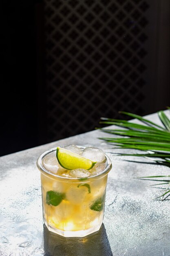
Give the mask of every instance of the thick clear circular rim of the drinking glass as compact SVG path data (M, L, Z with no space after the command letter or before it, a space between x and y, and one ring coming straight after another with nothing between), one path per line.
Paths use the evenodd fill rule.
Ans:
M63 146L66 146L66 145L62 145L61 147L63 147ZM77 146L77 145L76 145ZM77 146L77 147L79 147L79 148L87 148L88 146ZM101 172L99 172L99 173L97 173L97 174L95 174L95 175L92 175L92 176L89 176L89 177L84 177L84 178L75 178L75 177L63 177L63 176L60 176L60 175L57 175L57 174L55 174L55 173L52 173L52 172L50 172L50 171L48 171L44 166L43 166L43 164L42 164L42 160L43 160L43 158L44 157L46 157L46 155L48 155L49 153L52 153L52 152L54 152L55 150L57 149L57 147L55 147L55 148L51 148L51 149L49 149L49 150L46 150L44 153L42 153L39 157L38 157L38 159L37 159L37 167L38 167L38 169L39 169L39 171L41 172L41 173L43 173L44 175L45 174L47 174L48 176L52 176L52 177L55 177L55 178L59 178L59 179L61 179L61 180L75 180L75 181L84 181L84 182L86 182L86 181L89 181L89 180L93 180L93 179L95 179L95 178L99 178L100 176L105 176L110 170L111 170L111 168L112 168L112 162L111 162L111 160L110 160L110 158L108 157L108 155L106 155L105 153L105 157L106 157L106 167L104 168L104 170L103 171L101 171ZM52 178L51 177L51 178Z

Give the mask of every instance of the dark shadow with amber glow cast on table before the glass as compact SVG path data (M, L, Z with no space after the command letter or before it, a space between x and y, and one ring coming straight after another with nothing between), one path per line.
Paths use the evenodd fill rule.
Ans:
M84 238L65 238L47 229L44 225L45 256L113 256L106 229Z

